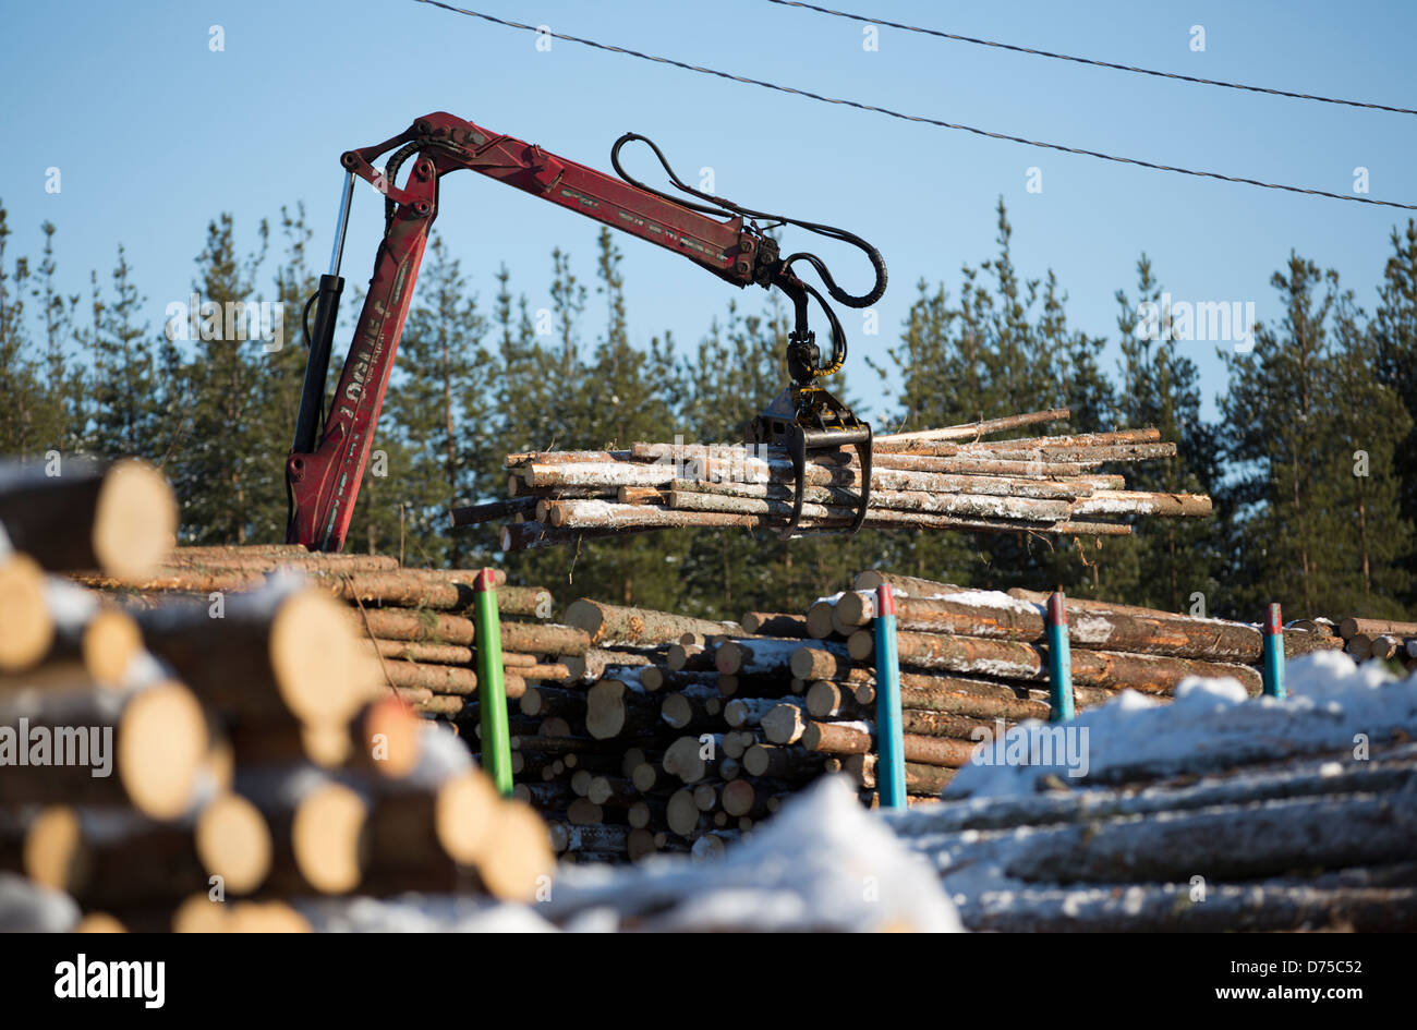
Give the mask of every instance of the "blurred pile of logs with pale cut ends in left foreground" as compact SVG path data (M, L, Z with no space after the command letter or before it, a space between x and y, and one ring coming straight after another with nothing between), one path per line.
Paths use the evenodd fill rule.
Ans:
M0 527L0 870L81 928L303 929L323 897L530 898L551 873L544 823L393 697L329 577L170 553L137 463L7 470Z

